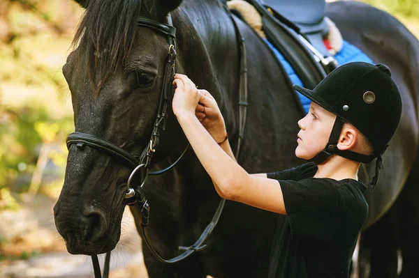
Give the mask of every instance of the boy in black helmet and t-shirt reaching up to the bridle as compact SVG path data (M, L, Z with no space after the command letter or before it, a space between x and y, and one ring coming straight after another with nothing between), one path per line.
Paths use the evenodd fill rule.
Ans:
M216 192L286 215L277 227L269 277L348 277L368 214L367 187L358 181L358 168L377 158L374 188L402 113L390 76L385 65L357 62L341 65L312 91L294 86L312 100L309 113L298 121L295 155L316 164L249 174L234 160L212 95L175 75L173 111Z

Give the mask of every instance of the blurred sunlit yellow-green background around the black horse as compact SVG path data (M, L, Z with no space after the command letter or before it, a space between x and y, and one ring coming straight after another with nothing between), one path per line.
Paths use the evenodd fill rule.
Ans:
M366 2L419 36L419 0ZM74 129L61 67L82 12L71 0L0 0L0 277L92 277L52 215ZM128 212L122 229L111 277L147 277Z

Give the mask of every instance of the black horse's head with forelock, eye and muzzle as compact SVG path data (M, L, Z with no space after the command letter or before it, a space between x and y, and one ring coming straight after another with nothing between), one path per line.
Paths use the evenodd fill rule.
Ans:
M152 137L166 86L170 41L161 31L138 26L138 18L167 23L168 13L180 2L79 1L86 11L74 40L78 47L63 67L76 132L140 157ZM165 136L175 141L174 133L166 128ZM160 150L170 148L168 144ZM64 187L54 207L57 229L72 254L108 252L119 240L130 169L89 144L70 144L68 151Z

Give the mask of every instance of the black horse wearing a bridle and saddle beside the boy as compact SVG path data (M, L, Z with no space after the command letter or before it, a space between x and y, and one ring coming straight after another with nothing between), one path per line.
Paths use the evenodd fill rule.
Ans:
M78 47L63 68L71 90L76 131L94 134L134 157L140 156L149 144L159 108L169 45L161 32L138 27L136 22L141 16L166 23L170 13L177 28L176 71L214 95L236 147L240 52L223 1L78 2L87 9L75 37ZM402 123L385 153L380 182L374 193L368 194L368 227L392 206L416 160L419 44L393 17L362 3L329 3L328 16L346 40L377 63L392 68L392 77L402 91ZM237 24L246 41L249 69L247 125L237 160L251 173L293 167L302 163L294 155L297 121L303 116L300 103L284 69L263 40L247 24L240 20ZM186 145L175 117L170 116L152 169L172 164ZM369 175L373 168L369 171L367 167ZM56 226L68 252L91 255L115 248L129 174L129 169L96 148L71 145L64 187L54 207ZM414 187L413 183L406 185L410 186ZM147 235L163 258L176 256L179 246L195 242L219 203L209 176L191 149L175 168L150 177L143 188L152 206ZM140 212L131 210L141 231ZM418 222L413 222L418 219L418 208L410 213L415 215L411 225L418 234ZM207 247L186 260L160 263L143 245L149 277L265 277L278 218L274 213L227 202ZM411 249L419 247L416 238L409 240L416 240ZM411 255L406 254L414 265ZM409 277L416 276L411 272Z

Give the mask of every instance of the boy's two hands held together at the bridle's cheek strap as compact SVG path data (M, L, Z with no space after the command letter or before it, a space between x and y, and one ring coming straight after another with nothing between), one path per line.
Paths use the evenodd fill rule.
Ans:
M172 109L175 116L195 113L204 128L216 142L226 138L226 125L214 97L205 90L198 90L186 75L175 75L173 84L177 86Z

